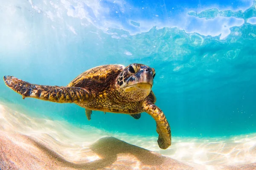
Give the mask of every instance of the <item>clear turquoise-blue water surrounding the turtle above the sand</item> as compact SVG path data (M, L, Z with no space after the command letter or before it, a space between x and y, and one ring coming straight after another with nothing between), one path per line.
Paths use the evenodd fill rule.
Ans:
M156 104L172 136L255 133L256 3L232 2L2 2L0 75L62 86L98 65L143 63L156 70ZM94 111L87 121L75 104L23 100L3 81L0 89L0 101L34 116L157 136L146 113L135 120Z

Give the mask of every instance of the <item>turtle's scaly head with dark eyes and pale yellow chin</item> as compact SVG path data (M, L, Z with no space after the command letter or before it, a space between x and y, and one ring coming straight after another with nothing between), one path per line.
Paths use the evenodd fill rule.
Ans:
M154 76L154 68L136 63L128 65L116 78L116 89L126 101L140 101L149 95Z

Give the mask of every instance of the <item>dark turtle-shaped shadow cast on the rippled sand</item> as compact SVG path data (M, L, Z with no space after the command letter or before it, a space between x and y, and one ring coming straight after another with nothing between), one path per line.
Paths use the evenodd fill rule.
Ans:
M96 153L101 159L81 164L67 161L58 153L49 149L45 145L35 141L34 139L31 140L33 141L33 144L38 147L38 149L44 150L44 153L47 153L47 155L51 159L55 159L55 163L61 167L72 167L76 169L91 170L102 169L104 167L110 167L117 160L118 154L120 153L135 156L137 158L137 161L140 161L140 164L146 167L162 167L163 165L165 165L165 167L170 167L174 164L187 166L174 159L162 156L157 153L153 153L149 150L145 150L132 144L128 144L114 137L101 138L90 146L90 149L94 153Z

